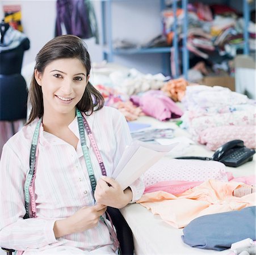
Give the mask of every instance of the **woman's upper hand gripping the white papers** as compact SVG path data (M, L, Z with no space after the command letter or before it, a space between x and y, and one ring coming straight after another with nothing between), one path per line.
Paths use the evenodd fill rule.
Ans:
M98 203L120 209L132 201L132 190L127 188L123 191L117 181L102 176L97 181L94 198Z

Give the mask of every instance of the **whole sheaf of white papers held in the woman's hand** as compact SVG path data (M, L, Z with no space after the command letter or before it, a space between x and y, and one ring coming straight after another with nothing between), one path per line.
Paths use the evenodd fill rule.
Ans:
M124 190L177 144L154 145L152 143L133 141L131 145L125 148L111 177L119 182Z

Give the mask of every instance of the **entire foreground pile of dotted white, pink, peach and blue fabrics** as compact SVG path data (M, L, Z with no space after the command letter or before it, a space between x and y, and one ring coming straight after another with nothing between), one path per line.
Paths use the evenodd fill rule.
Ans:
M167 224L184 227L182 240L191 247L224 250L256 239L255 175L234 178L220 162L163 159L142 180L146 189L137 203ZM255 248L249 244L250 251Z

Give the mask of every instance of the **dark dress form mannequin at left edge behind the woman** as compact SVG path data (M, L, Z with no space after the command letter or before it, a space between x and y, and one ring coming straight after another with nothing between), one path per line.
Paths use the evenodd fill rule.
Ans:
M26 120L27 84L20 74L23 54L30 41L3 20L0 23L0 155L3 144L15 133L15 121ZM8 121L8 122L7 122Z

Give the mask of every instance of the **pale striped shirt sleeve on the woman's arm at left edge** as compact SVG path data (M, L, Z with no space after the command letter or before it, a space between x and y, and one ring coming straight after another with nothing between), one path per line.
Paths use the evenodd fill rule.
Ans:
M22 151L20 151L22 156ZM6 144L0 160L1 173L1 247L15 250L40 248L56 242L53 226L56 219L23 219L26 169L19 156Z

